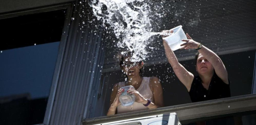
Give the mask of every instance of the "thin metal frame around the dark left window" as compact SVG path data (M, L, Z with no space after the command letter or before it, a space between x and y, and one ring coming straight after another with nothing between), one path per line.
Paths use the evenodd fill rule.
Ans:
M57 60L55 63L55 70L54 70L54 74L51 82L51 89L50 89L50 94L47 102L46 112L44 115L44 120L43 120L43 123L40 123L37 125L49 125L49 122L50 122L51 111L53 108L55 93L58 86L58 80L59 80L59 74L62 66L64 50L66 48L66 43L68 38L67 34L70 29L70 27L68 27L68 24L71 23L71 16L72 16L72 11L74 10L74 4L75 4L75 1L63 3L63 4L55 4L55 5L45 6L45 7L39 7L39 8L14 11L14 12L0 13L0 20L1 20L1 19L7 19L7 18L12 18L17 16L24 16L24 15L31 15L31 14L66 9L66 18L65 18L63 30L62 30L62 32L65 32L65 34L62 35L60 39L59 51L58 51Z

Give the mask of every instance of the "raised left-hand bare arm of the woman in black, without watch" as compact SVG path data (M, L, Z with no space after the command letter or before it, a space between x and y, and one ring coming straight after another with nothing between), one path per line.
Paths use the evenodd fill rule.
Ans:
M171 31L173 33L173 31ZM173 67L173 71L176 74L177 78L181 81L182 84L185 85L188 91L190 91L191 84L193 82L194 75L185 69L179 62L174 52L171 50L169 45L163 40L163 44L165 47L165 55L168 59L168 62Z

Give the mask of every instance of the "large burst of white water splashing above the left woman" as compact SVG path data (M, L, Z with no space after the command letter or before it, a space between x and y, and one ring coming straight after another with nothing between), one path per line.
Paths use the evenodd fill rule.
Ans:
M90 5L97 19L103 20L103 27L109 28L105 24L108 23L113 29L119 39L117 46L128 47L132 52L131 62L146 59L146 47L152 40L150 37L161 35L151 32L151 19L161 15L151 12L150 0L92 0Z

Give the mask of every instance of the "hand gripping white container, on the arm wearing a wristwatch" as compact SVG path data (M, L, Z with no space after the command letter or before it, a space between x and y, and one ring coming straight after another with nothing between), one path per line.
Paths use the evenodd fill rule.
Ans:
M186 43L183 43L181 44L181 46L184 46L182 47L181 49L185 49L185 50L188 50L188 49L197 49L198 48L198 45L200 43L197 43L196 41L194 41L190 36L189 34L187 33L186 34L187 38L188 39L182 39L182 41L186 42Z

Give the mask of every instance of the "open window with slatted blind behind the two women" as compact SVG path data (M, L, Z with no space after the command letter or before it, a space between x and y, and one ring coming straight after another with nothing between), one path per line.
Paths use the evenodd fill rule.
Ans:
M163 4L165 18L159 22L158 31L171 29L182 25L191 37L216 52L228 70L231 96L252 94L255 72L255 1L168 1ZM239 7L239 9L237 9ZM237 31L237 28L239 31ZM109 109L110 94L113 85L124 81L122 72L115 63L114 55L118 49L113 34L106 37L106 56L102 70L100 86L94 88L94 103L89 105L90 117L105 116ZM150 59L146 60L144 76L157 76L161 80L164 91L165 106L191 103L184 85L177 79L173 69L167 63L161 38L155 38L152 46L158 50L152 51ZM193 74L195 50L175 51L180 63ZM97 97L97 98L96 98ZM102 106L103 105L103 106Z

